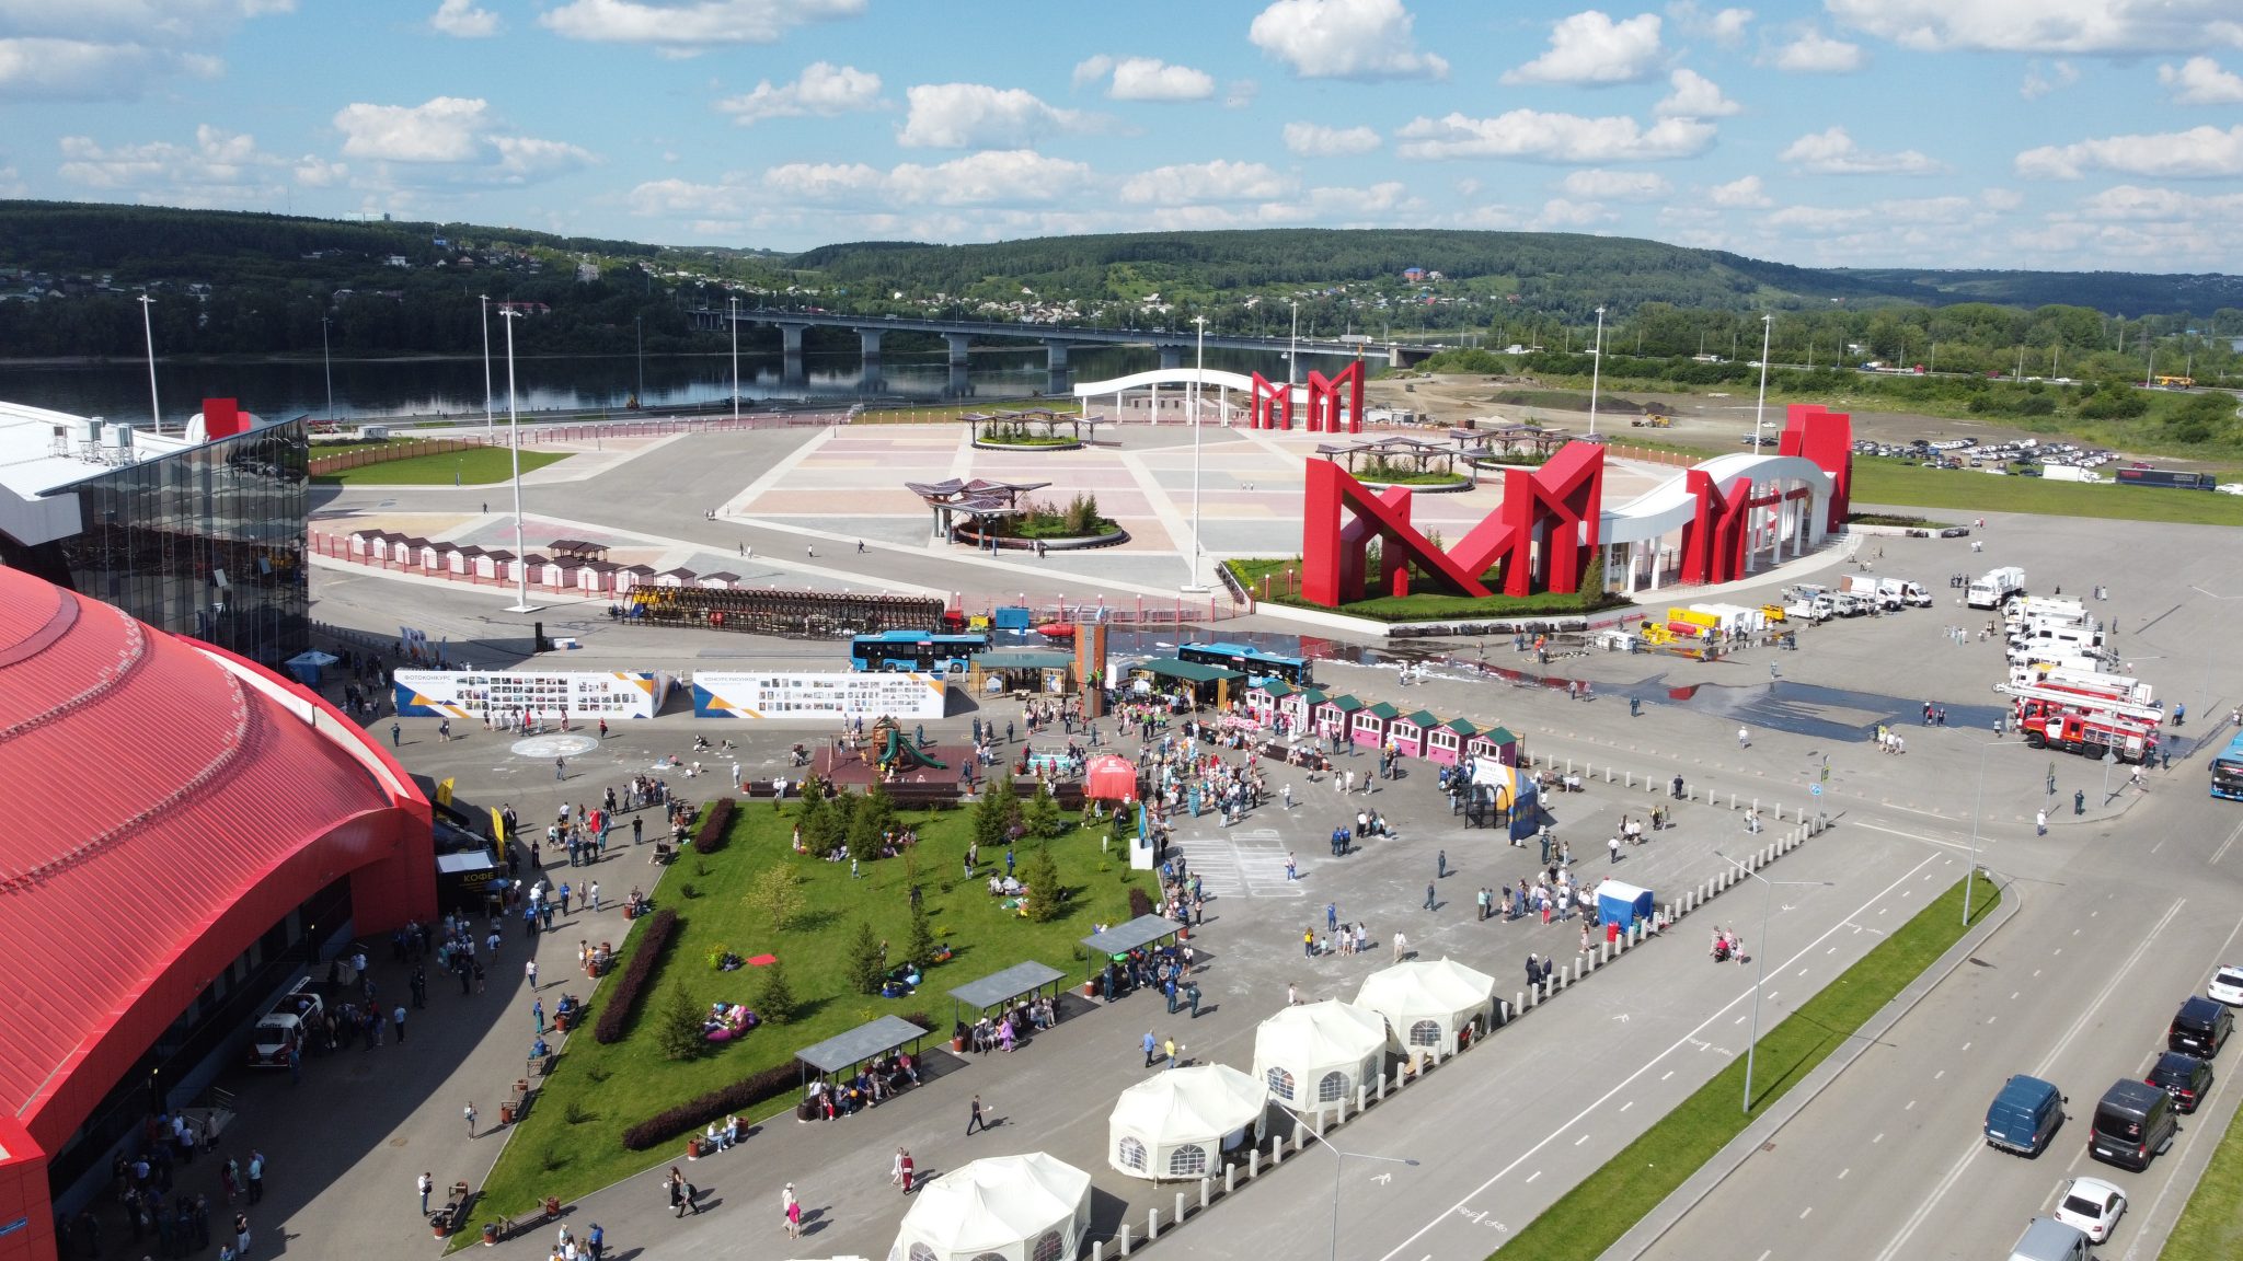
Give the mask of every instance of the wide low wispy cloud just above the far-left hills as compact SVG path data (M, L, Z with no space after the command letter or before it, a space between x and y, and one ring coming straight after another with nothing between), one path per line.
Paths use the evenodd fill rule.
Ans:
M343 173L316 157L265 153L256 137L209 123L195 128L195 144L101 146L92 137L63 137L61 148L63 164L56 173L65 184L177 206L271 206L283 200L292 177L327 186ZM13 177L13 168L4 175Z

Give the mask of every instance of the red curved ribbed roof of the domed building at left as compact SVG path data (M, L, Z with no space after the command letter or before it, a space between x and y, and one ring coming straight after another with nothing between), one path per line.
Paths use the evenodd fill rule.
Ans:
M312 714L0 568L0 1111L49 1151L265 927L404 844L410 781Z

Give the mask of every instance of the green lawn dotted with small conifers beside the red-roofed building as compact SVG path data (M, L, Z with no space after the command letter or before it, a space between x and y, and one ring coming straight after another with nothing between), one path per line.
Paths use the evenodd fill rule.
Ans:
M567 1052L507 1142L498 1167L491 1169L471 1214L473 1230L480 1232L480 1223L529 1207L543 1196L572 1200L677 1160L684 1138L648 1151L628 1151L621 1144L624 1129L751 1073L790 1064L794 1052L810 1043L886 1014L911 1012L935 1016L938 1032L947 1039L951 990L1030 958L1059 967L1079 981L1086 965L1077 960L1081 949L1077 942L1090 936L1090 924L1128 920L1133 880L1146 893L1155 891L1151 873L1130 873L1119 853L1110 859L1099 853L1101 830L1077 828L1068 837L1050 841L1061 882L1074 891L1072 911L1052 922L1030 922L1003 911L982 882L960 880L973 823L971 810L906 812L902 819L920 830L915 857L908 862L902 857L866 862L861 880L850 880L848 864L792 853L792 803L785 812L772 803L742 803L724 848L707 857L686 850L655 889L657 904L675 909L680 927L675 945L639 1003L630 1037L601 1046L592 1039L590 1023L570 1037ZM1003 864L1005 853L982 846L980 857L987 875L991 862ZM1027 859L1025 844L1018 857ZM794 864L805 877L807 911L785 931L772 931L767 920L747 906L747 891L758 873L776 864ZM610 864L603 880L612 891L621 891L641 873L644 857L626 846L621 862ZM924 886L938 940L949 945L956 958L931 967L920 992L908 998L850 992L846 981L848 942L859 922L870 924L875 936L890 942L890 958L904 954L911 940L908 891L913 880ZM621 924L612 922L612 927ZM601 931L608 933L612 927ZM572 976L565 965L579 936L574 924L556 924L550 942L556 949L547 954L561 958L550 960L550 976ZM637 945L637 936L624 942L624 958L617 960L612 976L628 969ZM662 998L673 981L682 978L702 1010L716 1001L754 1007L763 969L716 972L709 958L718 949L742 958L776 954L787 969L787 983L803 1003L803 1014L790 1025L767 1023L740 1041L711 1046L707 1055L689 1061L664 1059L653 1016L662 1010ZM608 981L597 992L588 992L581 981L547 990L547 1010L561 990L588 996L597 1021L599 1003L608 996ZM518 1016L507 1019L520 1028L527 1052L532 1034L527 1003ZM772 1099L758 1106L751 1120L792 1111L792 1095ZM484 1111L496 1115L496 1104L487 1104ZM469 1234L455 1236L455 1243L467 1241Z

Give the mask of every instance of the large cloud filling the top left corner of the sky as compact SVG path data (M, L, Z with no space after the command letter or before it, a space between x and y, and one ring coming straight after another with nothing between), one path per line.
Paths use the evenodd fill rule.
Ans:
M224 74L215 49L294 0L0 0L0 101L130 101L173 74Z

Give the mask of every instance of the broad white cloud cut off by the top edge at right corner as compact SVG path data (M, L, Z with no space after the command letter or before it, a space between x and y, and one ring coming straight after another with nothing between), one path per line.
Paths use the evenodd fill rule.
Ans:
M1920 52L2041 54L2243 47L2234 0L1824 0L1839 22Z

